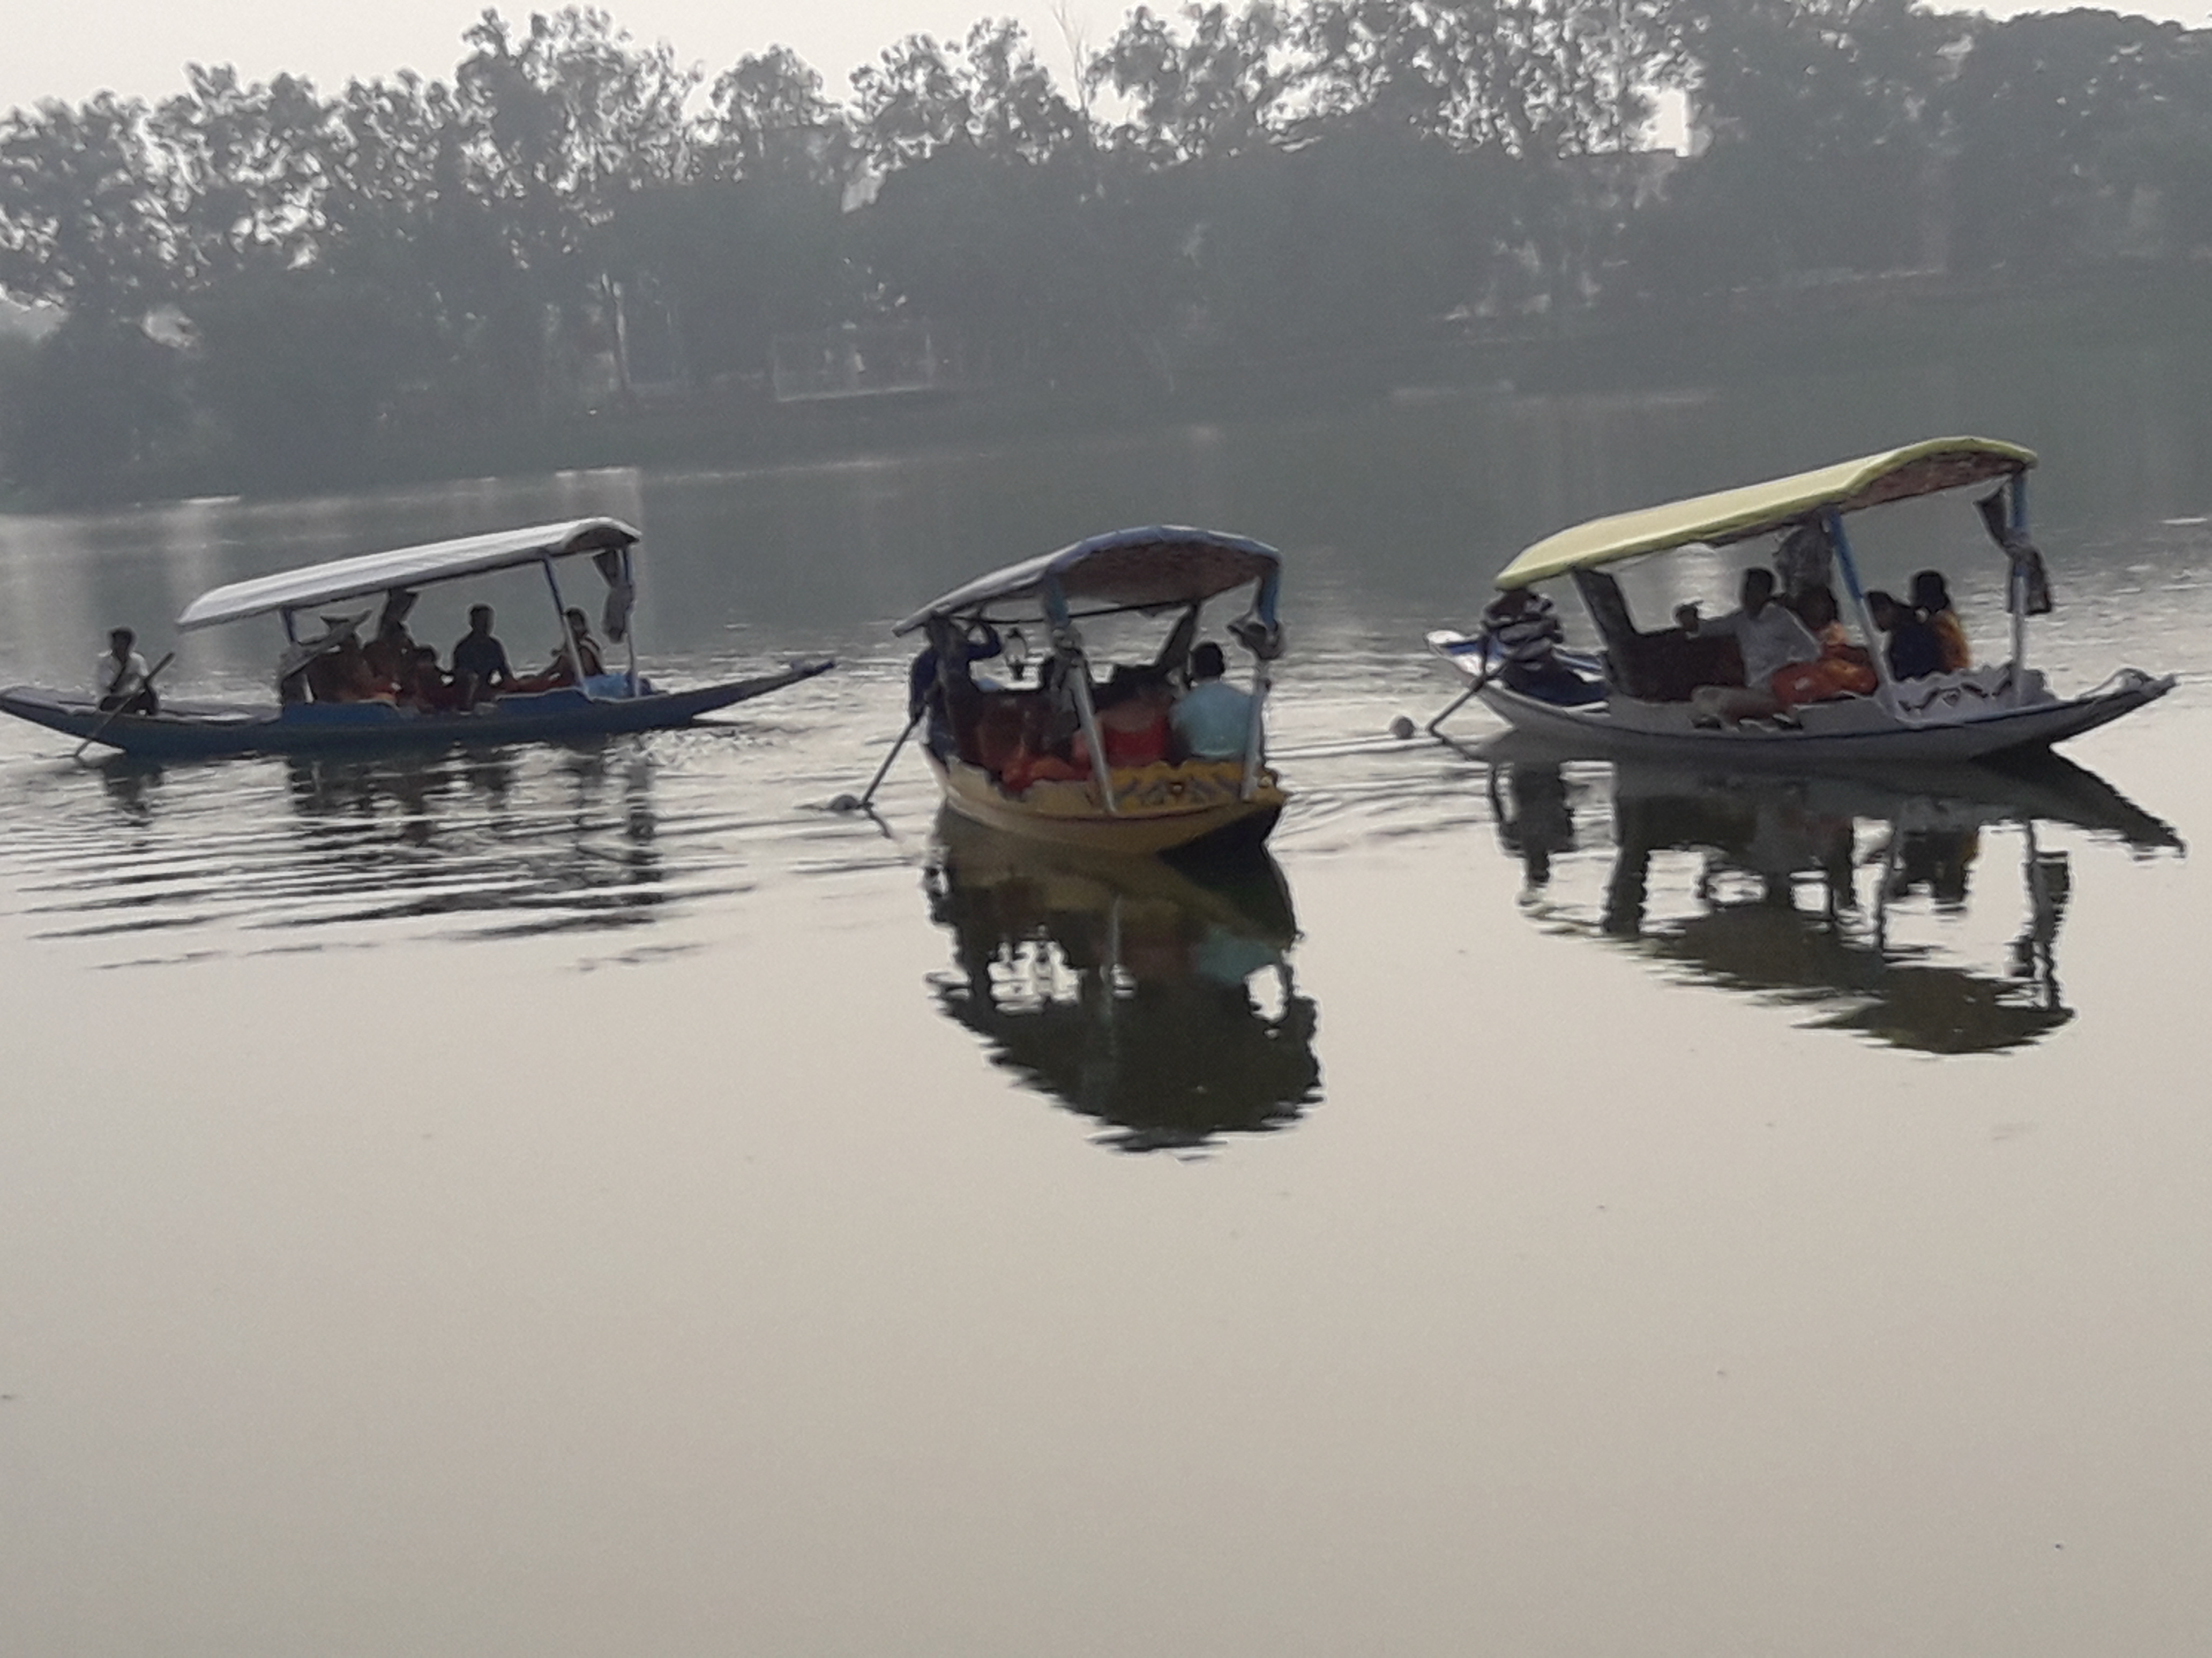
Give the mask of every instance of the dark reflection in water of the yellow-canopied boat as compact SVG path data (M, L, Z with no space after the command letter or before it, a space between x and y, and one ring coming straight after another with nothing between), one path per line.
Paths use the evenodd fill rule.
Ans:
M1498 838L1544 924L1924 1052L2017 1048L2073 1019L2057 973L2073 871L2048 844L2055 831L2181 849L2168 825L2057 756L1887 776L1568 769L1504 747L1489 758ZM1608 772L1613 867L1601 893L1577 891L1606 838ZM2015 862L2017 909L1993 917L2000 869ZM1995 959L1962 959L1978 951Z

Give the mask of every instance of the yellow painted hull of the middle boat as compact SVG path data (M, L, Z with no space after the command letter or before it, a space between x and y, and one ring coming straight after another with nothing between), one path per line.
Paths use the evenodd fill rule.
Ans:
M1259 787L1245 800L1241 760L1117 767L1115 814L1106 811L1088 783L1035 783L1026 794L1009 796L978 765L929 754L929 769L945 791L945 807L987 829L1055 847L1139 856L1210 856L1259 847L1274 831L1287 800L1267 769L1261 769Z

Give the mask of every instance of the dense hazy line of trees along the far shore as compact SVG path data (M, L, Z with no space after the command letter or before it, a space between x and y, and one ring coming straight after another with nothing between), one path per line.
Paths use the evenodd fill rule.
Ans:
M1139 7L1073 86L1011 22L836 99L604 11L487 11L451 80L192 66L0 119L13 478L330 471L533 422L637 356L754 387L779 334L927 318L989 385L1141 385L1847 274L2212 245L2212 31L1909 0ZM1690 99L1690 159L1639 148Z

